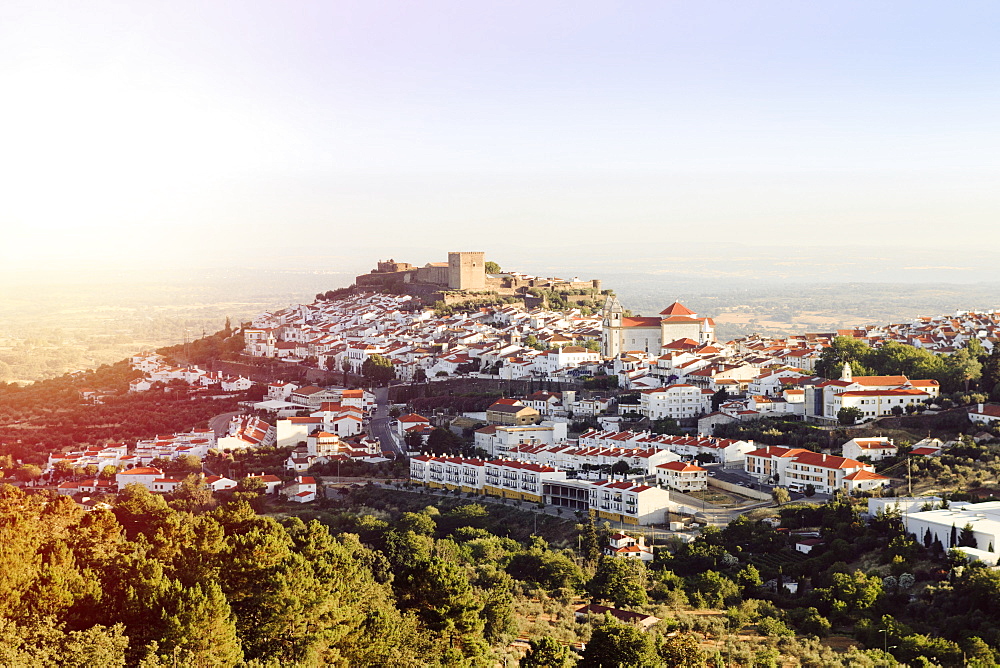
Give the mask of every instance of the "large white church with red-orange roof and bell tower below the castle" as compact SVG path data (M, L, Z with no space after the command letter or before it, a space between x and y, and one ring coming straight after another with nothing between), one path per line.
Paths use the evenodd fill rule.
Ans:
M615 296L604 303L601 353L617 357L623 352L638 350L659 356L663 346L679 339L691 339L699 344L715 342L715 323L680 302L674 302L658 316L626 317Z

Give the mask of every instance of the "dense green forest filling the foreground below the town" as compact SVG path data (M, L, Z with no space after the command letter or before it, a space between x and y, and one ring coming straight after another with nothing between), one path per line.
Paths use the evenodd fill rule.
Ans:
M369 485L261 515L261 491L130 486L84 512L3 486L0 663L989 666L1000 649L1000 576L843 497L661 537L644 565L601 555L606 523L532 529L519 503ZM822 539L808 555L802 530ZM661 621L577 619L588 602Z

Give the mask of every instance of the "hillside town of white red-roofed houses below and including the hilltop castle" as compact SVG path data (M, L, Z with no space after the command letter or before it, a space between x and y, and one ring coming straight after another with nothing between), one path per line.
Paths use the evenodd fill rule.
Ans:
M485 274L487 264L481 253L379 263L353 289L227 323L220 336L240 345L226 359L194 363L187 344L133 355L127 389L87 386L80 402L148 397L225 412L51 449L8 477L123 517L143 494L185 512L296 518L289 526L300 513L343 521L337 513L372 499L424 509L403 513L401 527L433 524L421 518L438 506L477 517L516 509L532 541L540 524L575 527L576 552L566 552L577 557L593 532L595 580L601 569L669 564L700 582L716 571L699 551L749 531L712 557L733 565L716 566L718 577L751 573L759 584L748 591L789 605L800 591L822 600L810 590L827 576L810 568L834 568L829 559L873 540L847 543L836 532L848 525L817 513L850 513L849 526L872 535L888 523L890 550L919 544L956 567L998 568L1000 502L980 490L1000 474L986 454L1000 440L1000 382L987 384L1000 374L1000 313L721 341L713 317L679 301L633 315L599 281ZM571 297L586 303L561 301ZM365 540L424 535L373 539L380 522L350 526ZM697 567L677 565L685 560ZM887 572L897 571L878 576L886 591L909 575ZM703 597L685 586L690 600ZM671 613L640 600L600 593L567 609L576 624L597 614L654 633Z

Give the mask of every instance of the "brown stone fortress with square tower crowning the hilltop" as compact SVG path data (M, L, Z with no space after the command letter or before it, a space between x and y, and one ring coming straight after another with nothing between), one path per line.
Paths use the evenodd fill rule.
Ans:
M545 290L601 291L601 281L538 278L517 272L486 273L486 253L454 251L447 262L429 262L422 267L395 260L379 261L370 273L355 278L359 290L410 294L425 302L455 304L476 297L498 295L524 297L532 288Z

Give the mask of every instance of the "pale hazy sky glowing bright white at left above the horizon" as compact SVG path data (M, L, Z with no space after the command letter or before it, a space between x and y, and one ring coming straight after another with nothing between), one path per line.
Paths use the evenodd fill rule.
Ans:
M954 264L1000 248L998 25L995 1L6 0L0 263Z

